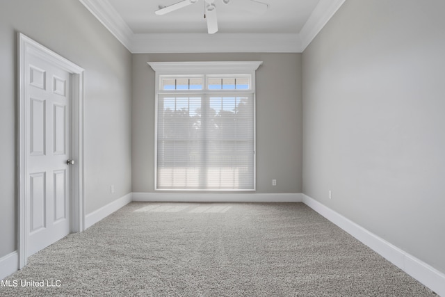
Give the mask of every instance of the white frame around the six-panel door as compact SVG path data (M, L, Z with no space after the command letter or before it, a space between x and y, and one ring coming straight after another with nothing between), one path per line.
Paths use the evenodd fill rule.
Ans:
M29 218L26 217L26 208L28 207L26 202L26 175L28 173L26 145L29 142L29 139L26 138L26 132L29 130L29 122L28 119L26 119L25 104L27 95L27 56L28 54L36 55L44 61L72 74L71 158L76 161L76 165L71 167L72 172L70 177L70 233L85 230L85 203L83 192L83 74L85 70L20 32L17 33L17 49L17 252L19 254L19 269L21 269L27 264L29 257L29 255L27 255L28 234L26 234L26 225L29 224Z

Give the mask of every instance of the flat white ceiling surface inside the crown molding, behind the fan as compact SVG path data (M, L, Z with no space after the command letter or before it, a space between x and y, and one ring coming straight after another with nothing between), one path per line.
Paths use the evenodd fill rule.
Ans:
M158 6L180 0L108 0L133 33L207 33L204 0L198 0L166 15L155 15ZM318 0L259 0L268 3L266 13L257 14L236 7L236 0L224 4L215 0L218 33L300 33Z

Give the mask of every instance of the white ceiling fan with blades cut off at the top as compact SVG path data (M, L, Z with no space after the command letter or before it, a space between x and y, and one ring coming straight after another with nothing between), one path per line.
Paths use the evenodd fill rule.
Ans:
M182 0L178 3L172 4L170 6L159 6L159 10L154 13L156 15L165 15L166 13L171 13L172 11L184 8L186 6L195 4L199 0ZM252 11L253 13L264 13L269 7L267 3L259 2L256 0L221 0L224 4L236 3L237 8L243 10ZM215 0L204 0L204 18L207 20L207 31L209 34L218 32L218 20L216 18L216 4Z

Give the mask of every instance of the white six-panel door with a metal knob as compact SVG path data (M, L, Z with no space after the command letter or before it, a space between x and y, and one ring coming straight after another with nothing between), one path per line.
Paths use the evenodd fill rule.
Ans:
M28 256L71 231L71 74L26 56L26 216Z

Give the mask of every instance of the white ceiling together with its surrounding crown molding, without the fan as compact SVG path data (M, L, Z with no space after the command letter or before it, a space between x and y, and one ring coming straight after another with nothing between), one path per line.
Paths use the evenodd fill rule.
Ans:
M257 15L215 0L218 28L207 34L204 0L167 15L181 0L79 0L132 53L302 52L345 0L257 0Z

